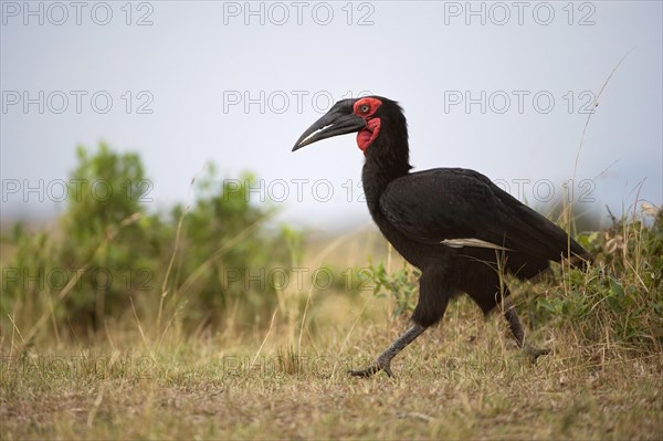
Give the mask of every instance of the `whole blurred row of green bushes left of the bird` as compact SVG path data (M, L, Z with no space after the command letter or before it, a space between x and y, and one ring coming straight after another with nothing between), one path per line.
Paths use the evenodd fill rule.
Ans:
M49 317L77 333L131 308L160 318L186 307L183 321L196 326L218 322L231 303L251 315L272 308L274 286L248 277L288 270L299 235L270 228L274 209L250 203L253 177L219 180L209 167L191 207L164 216L148 210L154 185L138 155L102 144L94 154L78 147L77 159L56 228L29 233L19 224L9 238L3 330L14 326L8 317L23 327Z

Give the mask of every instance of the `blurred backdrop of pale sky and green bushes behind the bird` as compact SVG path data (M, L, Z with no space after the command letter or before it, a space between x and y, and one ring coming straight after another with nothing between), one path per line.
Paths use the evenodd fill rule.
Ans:
M415 169L480 170L590 251L663 199L661 2L0 4L6 335L409 311L354 136L291 153L341 98L399 101Z

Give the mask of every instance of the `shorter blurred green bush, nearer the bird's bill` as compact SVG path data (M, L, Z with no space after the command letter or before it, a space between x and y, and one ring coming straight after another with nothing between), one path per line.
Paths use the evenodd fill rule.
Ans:
M191 319L213 322L213 311L234 302L260 313L275 303L270 272L290 271L298 253L298 233L265 228L274 209L250 203L249 188L255 187L252 175L220 182L214 167L208 167L196 181L196 204L188 212L182 206L172 212L173 219L183 217L183 223L167 285L178 294L172 302L193 305Z

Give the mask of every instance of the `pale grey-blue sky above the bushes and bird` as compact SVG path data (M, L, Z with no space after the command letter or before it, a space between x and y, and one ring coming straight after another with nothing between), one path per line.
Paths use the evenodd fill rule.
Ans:
M62 212L75 146L105 140L140 154L154 210L213 161L220 179L254 172L252 200L283 220L368 222L352 135L291 153L367 92L406 109L415 169L472 168L534 204L565 191L629 51L572 198L621 212L644 181L640 198L663 201L660 1L0 6L2 221Z

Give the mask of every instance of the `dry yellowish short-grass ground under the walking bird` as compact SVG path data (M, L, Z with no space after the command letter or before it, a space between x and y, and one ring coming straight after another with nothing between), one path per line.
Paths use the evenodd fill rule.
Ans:
M365 302L366 301L366 302ZM325 301L323 301L325 302ZM326 309L335 304L326 300ZM350 378L407 325L367 294L297 339L276 314L264 335L157 342L130 330L87 347L4 354L3 439L660 439L663 354L532 334L532 365L498 316L463 298L393 364ZM365 307L364 307L365 306ZM364 307L361 317L359 309ZM295 333L296 334L296 333ZM294 335L296 337L296 335ZM262 347L262 348L261 348Z

